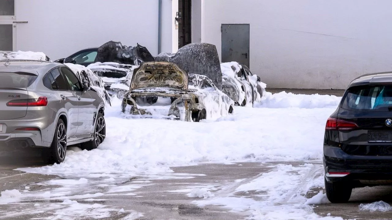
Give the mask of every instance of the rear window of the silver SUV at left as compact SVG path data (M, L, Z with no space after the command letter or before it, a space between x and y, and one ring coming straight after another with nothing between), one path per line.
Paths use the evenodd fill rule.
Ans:
M26 88L37 78L28 73L0 72L0 88Z

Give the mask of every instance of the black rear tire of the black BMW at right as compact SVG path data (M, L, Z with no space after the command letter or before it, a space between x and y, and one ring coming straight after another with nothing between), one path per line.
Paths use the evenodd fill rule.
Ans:
M325 192L332 203L345 203L351 197L352 187L347 182L328 182L324 177Z

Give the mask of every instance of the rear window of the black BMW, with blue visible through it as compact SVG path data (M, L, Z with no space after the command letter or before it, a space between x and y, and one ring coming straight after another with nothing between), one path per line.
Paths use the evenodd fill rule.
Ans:
M392 85L349 88L342 108L361 111L392 110Z

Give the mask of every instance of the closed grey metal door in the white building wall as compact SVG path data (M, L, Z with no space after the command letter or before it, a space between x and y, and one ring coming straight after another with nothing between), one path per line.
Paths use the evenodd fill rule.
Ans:
M249 24L222 24L222 62L237 61L249 67Z

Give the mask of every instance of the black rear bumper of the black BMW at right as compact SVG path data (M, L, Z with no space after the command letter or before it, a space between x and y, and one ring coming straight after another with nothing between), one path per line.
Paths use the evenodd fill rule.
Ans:
M392 180L392 156L349 155L339 147L324 145L323 163L328 182Z

